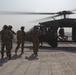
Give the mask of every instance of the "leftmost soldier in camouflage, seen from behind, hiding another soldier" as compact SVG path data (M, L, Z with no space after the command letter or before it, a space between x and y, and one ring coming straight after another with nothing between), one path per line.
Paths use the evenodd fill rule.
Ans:
M4 25L1 31L1 58L4 57L4 47L6 46L7 57L11 58L11 44L10 40L13 38L12 33L8 30L8 26Z

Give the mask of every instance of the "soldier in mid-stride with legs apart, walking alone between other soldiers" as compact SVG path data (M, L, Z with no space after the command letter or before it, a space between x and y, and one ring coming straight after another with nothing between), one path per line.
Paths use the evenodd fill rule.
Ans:
M24 26L22 26L21 30L17 31L17 47L15 49L15 54L17 54L17 50L19 49L20 45L21 45L21 54L23 54L25 37L26 37L26 33L24 31Z

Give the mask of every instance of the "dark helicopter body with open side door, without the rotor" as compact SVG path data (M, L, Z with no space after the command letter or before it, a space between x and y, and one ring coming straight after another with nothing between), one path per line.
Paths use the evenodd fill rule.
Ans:
M40 23L40 30L42 31L42 36L40 41L45 41L52 47L57 47L58 42L76 42L76 19L65 18L58 19ZM67 36L59 38L58 29L59 28L72 28L72 39L68 39ZM63 34L63 33L62 33Z

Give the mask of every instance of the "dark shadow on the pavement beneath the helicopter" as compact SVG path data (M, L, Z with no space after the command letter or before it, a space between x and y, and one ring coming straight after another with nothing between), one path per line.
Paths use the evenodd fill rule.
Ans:
M29 48L29 50L32 50L32 46L26 46L26 48ZM40 52L53 52L53 51L65 51L65 52L72 52L76 53L76 47L56 47L53 48L51 46L39 46Z

